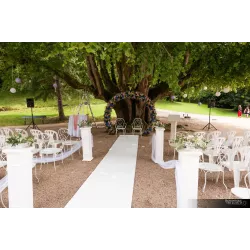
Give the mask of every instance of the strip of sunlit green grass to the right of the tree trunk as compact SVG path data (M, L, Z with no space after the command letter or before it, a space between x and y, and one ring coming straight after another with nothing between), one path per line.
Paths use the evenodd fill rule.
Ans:
M167 102L165 100L156 102L155 106L158 109L167 109L171 111L185 112L190 114L207 115L209 111L207 104L202 104L201 106L199 106L196 103ZM213 108L211 114L213 116L237 116L237 113L234 110L222 108Z

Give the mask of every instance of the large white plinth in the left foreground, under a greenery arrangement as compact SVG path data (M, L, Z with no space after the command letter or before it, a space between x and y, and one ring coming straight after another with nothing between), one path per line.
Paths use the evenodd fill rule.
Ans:
M29 148L6 148L10 208L33 208L33 154Z

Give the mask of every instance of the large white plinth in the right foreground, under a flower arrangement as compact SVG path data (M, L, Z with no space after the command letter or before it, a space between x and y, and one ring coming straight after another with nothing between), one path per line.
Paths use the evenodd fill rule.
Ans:
M177 208L195 208L198 198L199 158L198 149L178 150L179 163L175 169Z

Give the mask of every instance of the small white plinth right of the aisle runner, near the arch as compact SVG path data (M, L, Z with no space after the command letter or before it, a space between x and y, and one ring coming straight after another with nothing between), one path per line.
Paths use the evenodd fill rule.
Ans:
M152 160L155 163L163 162L164 130L165 128L155 127L154 142L152 143Z

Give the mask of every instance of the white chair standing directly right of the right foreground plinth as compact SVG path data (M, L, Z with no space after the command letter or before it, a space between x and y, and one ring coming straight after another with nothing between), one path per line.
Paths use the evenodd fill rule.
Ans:
M225 169L224 157L225 155L221 151L219 151L217 155L218 156L215 162L201 162L199 164L199 169L201 169L205 173L205 183L204 183L202 192L205 192L208 173L222 173L222 182L225 188L227 189L227 186L224 180L224 169ZM218 180L219 180L219 177L217 176L216 182L218 182Z

